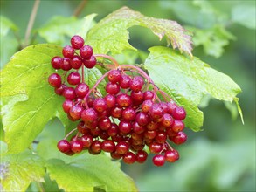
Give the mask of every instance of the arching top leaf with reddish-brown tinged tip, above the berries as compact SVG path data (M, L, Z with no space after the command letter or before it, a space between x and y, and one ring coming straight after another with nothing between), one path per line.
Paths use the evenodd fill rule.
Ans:
M166 36L174 49L191 55L191 38L175 21L143 16L140 12L122 7L95 24L87 34L86 44L93 45L96 53L121 53L135 48L128 43L129 27L139 25L149 28L160 40Z

